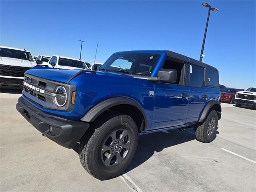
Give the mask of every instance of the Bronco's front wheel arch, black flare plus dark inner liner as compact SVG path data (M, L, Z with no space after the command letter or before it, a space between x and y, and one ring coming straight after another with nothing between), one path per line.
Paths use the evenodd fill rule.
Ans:
M142 107L134 100L125 97L109 98L96 104L80 120L93 122L107 110L118 111L129 115L136 122L139 131L146 128L146 116Z

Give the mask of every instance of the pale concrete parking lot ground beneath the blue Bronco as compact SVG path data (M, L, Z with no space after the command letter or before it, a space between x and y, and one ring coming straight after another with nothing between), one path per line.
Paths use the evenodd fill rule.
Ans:
M218 135L194 132L140 136L122 176L100 181L81 166L77 150L55 144L17 111L20 92L0 93L0 191L256 191L256 111L222 103Z

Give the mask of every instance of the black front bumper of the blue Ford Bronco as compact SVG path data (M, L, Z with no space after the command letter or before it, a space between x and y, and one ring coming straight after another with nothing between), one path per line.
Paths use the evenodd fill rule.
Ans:
M45 114L23 97L18 99L16 109L38 131L66 148L73 148L89 128L89 124L85 122L70 121Z

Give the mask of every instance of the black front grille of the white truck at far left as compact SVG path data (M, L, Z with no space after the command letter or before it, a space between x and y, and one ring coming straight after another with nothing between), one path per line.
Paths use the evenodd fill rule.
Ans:
M24 72L29 69L30 67L0 65L0 75L11 77L24 77Z

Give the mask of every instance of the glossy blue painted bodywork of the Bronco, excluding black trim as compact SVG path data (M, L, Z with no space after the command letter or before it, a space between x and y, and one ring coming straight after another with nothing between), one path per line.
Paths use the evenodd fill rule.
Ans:
M160 54L152 77L156 76L166 60L166 52L164 51L127 51L114 54L120 53ZM66 82L77 72L79 70L37 67L26 73L57 82ZM76 102L70 112L45 109L30 102L30 100L28 102L47 114L68 120L80 120L93 106L108 98L129 98L140 105L144 111L147 122L146 131L153 131L162 128L190 126L198 121L202 110L210 100L220 100L218 88L191 88L176 84L150 82L114 72L83 73L73 78L69 83L75 84L77 88ZM151 97L150 92L154 92L154 96ZM188 94L189 97L182 98L180 94ZM204 99L202 98L203 94L207 94L209 97Z

